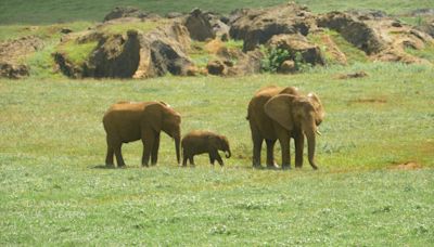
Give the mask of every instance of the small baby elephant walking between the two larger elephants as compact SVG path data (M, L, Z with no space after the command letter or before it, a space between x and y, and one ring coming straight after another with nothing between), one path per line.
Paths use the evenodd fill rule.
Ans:
M182 166L187 166L187 159L190 160L190 165L194 166L193 157L196 154L208 153L209 162L214 165L214 161L217 160L220 166L224 166L224 160L218 151L226 152L227 158L231 156L228 139L206 130L194 130L186 134L181 141L181 147Z

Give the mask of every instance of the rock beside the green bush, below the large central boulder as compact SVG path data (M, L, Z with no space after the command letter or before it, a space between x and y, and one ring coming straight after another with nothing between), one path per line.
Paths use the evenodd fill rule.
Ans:
M297 53L303 63L311 65L324 65L326 60L318 46L310 43L306 37L299 34L276 35L267 43L269 48L283 49L290 52L293 61L297 60Z

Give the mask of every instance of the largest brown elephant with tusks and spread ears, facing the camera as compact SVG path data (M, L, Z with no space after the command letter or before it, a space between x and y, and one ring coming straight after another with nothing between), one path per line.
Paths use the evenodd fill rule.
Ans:
M294 87L267 87L251 100L247 120L253 141L253 166L260 167L263 141L267 144L267 167L275 168L273 147L279 140L282 150L282 168L291 168L290 139L295 143L295 167L303 166L304 135L308 144L308 159L314 169L317 127L324 117L319 98L304 96Z

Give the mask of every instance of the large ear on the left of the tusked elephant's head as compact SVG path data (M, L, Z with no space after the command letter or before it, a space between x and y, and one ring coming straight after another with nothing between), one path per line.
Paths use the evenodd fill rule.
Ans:
M292 102L296 99L292 94L279 94L265 104L264 110L272 120L279 122L286 130L294 129L292 119Z

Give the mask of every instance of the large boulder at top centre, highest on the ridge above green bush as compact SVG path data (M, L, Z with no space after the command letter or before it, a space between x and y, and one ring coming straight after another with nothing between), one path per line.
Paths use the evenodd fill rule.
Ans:
M243 50L251 51L275 35L298 32L306 36L316 27L315 15L306 6L290 2L232 13L230 36L244 40Z

